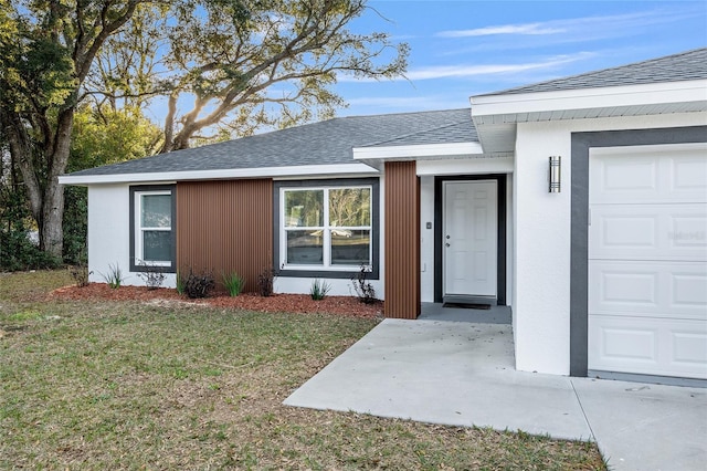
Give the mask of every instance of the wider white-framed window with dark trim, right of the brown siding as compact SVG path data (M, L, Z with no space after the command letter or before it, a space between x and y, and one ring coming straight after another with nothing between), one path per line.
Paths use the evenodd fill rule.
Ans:
M377 179L281 182L276 201L281 275L377 276Z

